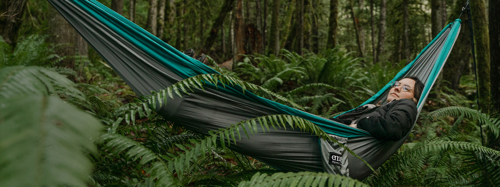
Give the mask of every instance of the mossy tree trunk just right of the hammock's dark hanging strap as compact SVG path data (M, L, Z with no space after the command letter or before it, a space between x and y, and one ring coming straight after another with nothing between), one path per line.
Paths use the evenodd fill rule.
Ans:
M475 59L477 62L477 85L479 87L479 107L489 113L489 35L484 0L470 1L472 29L474 32Z

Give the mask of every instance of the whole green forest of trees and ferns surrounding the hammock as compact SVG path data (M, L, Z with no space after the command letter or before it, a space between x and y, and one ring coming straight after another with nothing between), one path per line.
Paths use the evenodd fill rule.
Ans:
M458 18L466 2L98 1L180 51L193 48L208 55L222 74L323 117L357 107L376 93ZM500 2L471 0L470 8L473 29L465 13L406 143L351 186L500 186L500 14L494 11ZM347 186L354 181L321 173L282 174L223 143L203 145L207 138L148 110L149 100L139 100L47 1L0 0L0 36L0 186L315 186L325 181ZM254 92L286 104L271 92Z

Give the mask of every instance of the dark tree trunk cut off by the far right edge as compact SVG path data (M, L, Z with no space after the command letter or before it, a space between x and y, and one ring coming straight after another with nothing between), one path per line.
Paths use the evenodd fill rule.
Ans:
M489 113L494 118L500 118L500 1L489 0L488 2L488 30L489 30L489 63L491 80L491 99ZM500 139L494 137L493 133L487 134L486 146L500 150Z

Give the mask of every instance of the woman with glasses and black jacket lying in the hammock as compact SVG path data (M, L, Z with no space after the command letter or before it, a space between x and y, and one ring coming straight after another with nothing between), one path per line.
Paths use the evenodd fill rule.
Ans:
M366 104L330 120L362 129L378 139L398 141L416 120L416 104L423 86L417 77L404 77L392 82L387 104Z

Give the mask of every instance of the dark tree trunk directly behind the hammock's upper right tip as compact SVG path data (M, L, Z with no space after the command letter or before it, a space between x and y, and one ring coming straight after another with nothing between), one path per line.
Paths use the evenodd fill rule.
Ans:
M455 3L455 7L453 7L453 11L451 11L448 22L455 20L460 11L462 9L463 4L465 4L467 0L457 0ZM448 86L453 90L458 90L458 86L460 85L460 77L462 75L463 69L469 64L470 59L470 36L469 36L469 26L468 20L463 19L462 15L462 23L460 34L458 34L458 38L456 39L455 46L451 49L451 52L448 56L448 60L444 64L442 69L442 80L446 80L450 83Z

